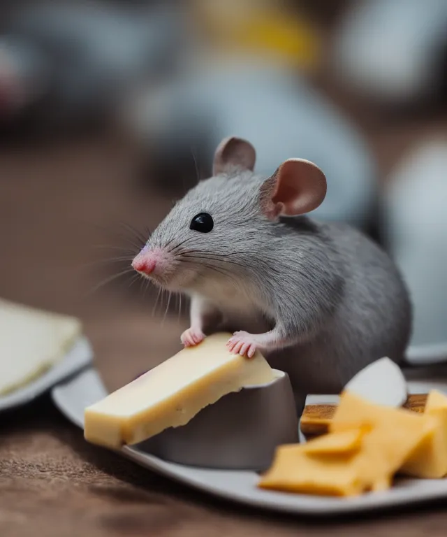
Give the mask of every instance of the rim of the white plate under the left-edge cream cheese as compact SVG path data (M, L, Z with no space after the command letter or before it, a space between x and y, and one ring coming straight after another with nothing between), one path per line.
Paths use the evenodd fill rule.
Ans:
M0 412L24 405L36 399L36 397L52 388L61 380L87 367L91 364L92 359L93 352L89 342L85 337L79 338L64 358L43 373L43 375L40 375L24 387L10 392L10 394L0 396Z

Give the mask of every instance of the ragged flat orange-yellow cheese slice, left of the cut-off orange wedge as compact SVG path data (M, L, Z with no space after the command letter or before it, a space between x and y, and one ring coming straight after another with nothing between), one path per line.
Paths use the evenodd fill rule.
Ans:
M332 432L277 448L258 486L335 496L386 490L435 425L423 415L370 403L346 391L330 422Z

